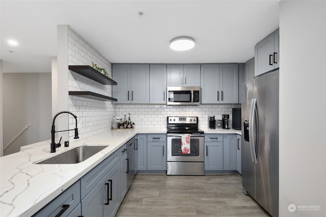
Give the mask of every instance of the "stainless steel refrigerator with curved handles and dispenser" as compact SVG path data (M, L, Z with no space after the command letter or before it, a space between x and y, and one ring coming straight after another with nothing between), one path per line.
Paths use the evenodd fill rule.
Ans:
M242 84L242 187L279 216L279 70Z

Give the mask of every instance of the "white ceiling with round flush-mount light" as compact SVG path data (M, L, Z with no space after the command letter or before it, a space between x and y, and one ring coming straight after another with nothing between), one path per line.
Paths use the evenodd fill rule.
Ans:
M276 0L1 0L0 10L4 73L50 72L58 24L70 25L112 63L244 63L279 27ZM171 50L177 36L193 37L195 47Z

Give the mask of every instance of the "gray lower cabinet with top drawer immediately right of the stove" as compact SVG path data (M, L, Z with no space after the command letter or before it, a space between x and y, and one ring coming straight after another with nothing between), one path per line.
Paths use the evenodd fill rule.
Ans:
M223 170L222 134L205 134L205 170Z

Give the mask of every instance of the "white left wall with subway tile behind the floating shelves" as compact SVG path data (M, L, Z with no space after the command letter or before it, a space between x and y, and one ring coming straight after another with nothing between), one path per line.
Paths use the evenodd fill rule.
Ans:
M76 114L80 139L107 131L110 126L111 117L115 113L115 107L112 102L68 96L68 91L92 91L111 97L112 86L100 84L73 71L69 71L68 66L92 66L93 61L99 67L105 68L108 74L112 76L111 62L69 25L58 25L58 47L59 45L61 51L59 52L58 50L58 74L62 73L62 75L58 76L58 89L64 85L63 89L65 92L62 95L58 94L58 105L63 101L63 104L66 106L65 100L68 100L67 107L59 110L69 110ZM62 80L63 84L61 83ZM63 118L67 119L66 117ZM67 129L62 129L61 126L59 127L59 130L68 129L68 127ZM75 119L69 115L69 129L73 129L74 127ZM69 134L69 140L73 140L72 131Z

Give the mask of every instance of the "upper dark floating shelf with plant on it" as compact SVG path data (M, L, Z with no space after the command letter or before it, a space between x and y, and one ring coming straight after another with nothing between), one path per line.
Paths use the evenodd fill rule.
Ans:
M90 66L69 66L69 70L74 71L79 75L83 75L104 85L117 85L116 81L103 75L102 73Z

